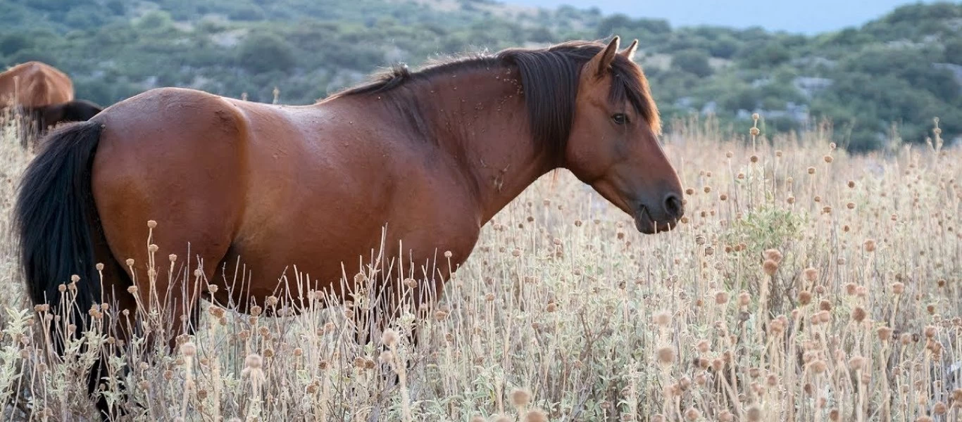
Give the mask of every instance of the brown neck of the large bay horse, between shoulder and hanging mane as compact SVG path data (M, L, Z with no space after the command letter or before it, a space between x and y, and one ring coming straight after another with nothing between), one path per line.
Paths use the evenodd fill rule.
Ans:
M557 166L531 136L517 69L462 69L426 84L418 103L442 156L477 201L482 225Z

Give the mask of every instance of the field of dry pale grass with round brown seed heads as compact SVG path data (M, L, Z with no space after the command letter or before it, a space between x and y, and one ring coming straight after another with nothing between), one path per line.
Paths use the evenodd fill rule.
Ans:
M825 133L710 127L666 137L690 189L677 231L639 235L567 172L545 177L484 228L428 317L370 344L346 317L365 294L323 310L310 291L296 317L206 306L175 354L86 341L125 352L112 367L133 369L132 395L108 394L134 420L958 420L962 152L933 137L849 157ZM6 216L29 156L4 131ZM14 419L89 417L91 355L45 353L7 238L0 402ZM155 277L179 277L163 251ZM173 325L91 316L161 337ZM403 335L415 325L417 347Z

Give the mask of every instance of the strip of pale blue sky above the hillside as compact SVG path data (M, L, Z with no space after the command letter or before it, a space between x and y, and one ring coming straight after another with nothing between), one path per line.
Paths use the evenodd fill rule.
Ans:
M770 31L814 35L858 26L915 0L501 0L527 6L578 9L597 7L605 14L667 19L672 27L761 26ZM924 0L932 3L934 0Z

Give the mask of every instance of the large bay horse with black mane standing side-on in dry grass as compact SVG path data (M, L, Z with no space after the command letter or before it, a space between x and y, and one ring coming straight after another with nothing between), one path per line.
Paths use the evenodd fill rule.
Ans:
M214 295L241 310L290 293L278 282L285 271L293 279L289 265L342 297L342 264L376 254L385 226L391 256L414 268L443 262L415 275L437 292L482 226L559 167L634 217L640 232L670 230L683 213L681 183L631 61L636 46L571 41L395 68L311 106L182 88L114 104L52 132L25 173L15 218L32 298L56 303L58 286L79 275L81 316L102 293L119 292L121 308L133 309L133 274L121 262L148 262L148 220L161 256L186 257L190 242L188 262L202 258L207 280L242 261L252 271L246 290L221 286ZM95 262L105 263L103 292ZM400 290L410 276L382 274L380 283ZM173 291L205 290L185 280ZM175 315L197 303L178 300Z

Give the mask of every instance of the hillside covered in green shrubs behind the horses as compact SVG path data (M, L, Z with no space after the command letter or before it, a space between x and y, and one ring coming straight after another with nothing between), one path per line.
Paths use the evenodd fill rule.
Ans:
M670 122L713 115L768 133L829 119L851 151L962 134L962 4L900 7L805 37L486 0L0 0L0 65L40 60L109 105L151 87L309 104L378 67L571 38L638 37Z

